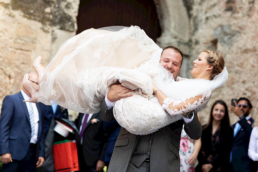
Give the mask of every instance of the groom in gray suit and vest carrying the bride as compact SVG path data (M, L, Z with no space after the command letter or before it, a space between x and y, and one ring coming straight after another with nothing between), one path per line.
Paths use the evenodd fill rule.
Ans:
M178 81L178 73L183 62L182 52L173 46L163 49L160 63L173 74ZM119 82L113 84L101 104L101 118L103 121L114 119L114 101L133 96L126 94L132 90L123 87ZM148 135L134 135L125 128L121 128L114 152L108 167L108 172L136 172L136 171L180 171L179 146L181 131L184 130L191 139L201 136L201 124L197 114L192 112L183 114L183 119L171 123Z

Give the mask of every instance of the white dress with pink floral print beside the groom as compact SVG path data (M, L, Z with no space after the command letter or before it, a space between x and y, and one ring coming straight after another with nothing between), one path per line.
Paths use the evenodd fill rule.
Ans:
M194 140L190 139L190 137L186 134L184 129L182 129L181 133L181 140L180 140L180 148L179 148L179 155L180 155L180 171L181 172L194 172L195 166L188 165L188 159L193 153L194 148Z

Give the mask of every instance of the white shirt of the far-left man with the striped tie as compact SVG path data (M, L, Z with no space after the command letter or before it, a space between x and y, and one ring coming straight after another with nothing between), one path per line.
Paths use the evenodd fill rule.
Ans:
M29 100L30 97L23 91L21 90L21 94L24 98L24 100ZM29 104L30 102L25 102L27 109L29 109ZM33 108L33 114L34 114L34 122L35 122L35 130L34 130L34 135L30 138L30 143L36 144L38 141L38 122L39 122L39 114L38 114L38 108L35 103L31 103L32 108ZM29 111L28 111L29 112Z

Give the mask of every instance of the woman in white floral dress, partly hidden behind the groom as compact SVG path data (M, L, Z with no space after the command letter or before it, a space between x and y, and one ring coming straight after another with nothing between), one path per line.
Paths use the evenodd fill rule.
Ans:
M201 123L201 118L198 115ZM180 156L180 172L194 172L195 162L201 149L201 138L198 140L191 139L184 130L181 133L179 156Z

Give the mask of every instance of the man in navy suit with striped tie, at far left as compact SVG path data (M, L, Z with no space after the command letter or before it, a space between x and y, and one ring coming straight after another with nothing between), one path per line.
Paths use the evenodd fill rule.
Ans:
M30 73L37 79L36 73ZM23 102L30 93L24 88L4 98L0 118L0 155L3 171L31 171L44 163L44 140L41 135L45 106ZM38 159L38 161L37 161Z

